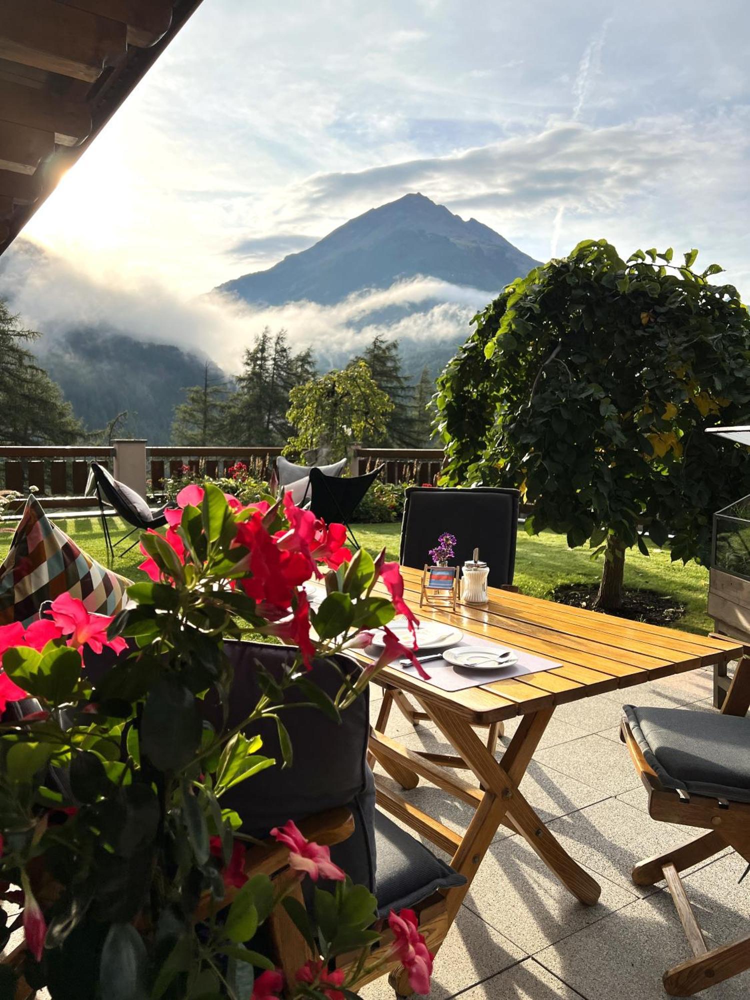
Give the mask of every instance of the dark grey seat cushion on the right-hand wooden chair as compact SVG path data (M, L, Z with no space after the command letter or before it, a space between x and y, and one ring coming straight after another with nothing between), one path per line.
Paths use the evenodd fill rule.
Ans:
M665 788L750 802L750 718L634 705L624 712Z

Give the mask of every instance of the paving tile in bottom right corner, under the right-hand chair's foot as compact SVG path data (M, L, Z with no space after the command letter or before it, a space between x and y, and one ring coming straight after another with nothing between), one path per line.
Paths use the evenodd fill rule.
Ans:
M737 885L744 863L728 855L685 879L709 948L747 927L750 894ZM583 996L664 1000L661 977L690 957L674 904L665 890L632 903L592 927L538 952L535 958ZM746 1000L750 972L712 986L707 1000Z

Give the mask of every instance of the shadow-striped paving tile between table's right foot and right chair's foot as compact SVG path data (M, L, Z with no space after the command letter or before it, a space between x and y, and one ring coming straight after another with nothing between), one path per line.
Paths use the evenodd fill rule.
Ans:
M646 799L645 789L643 798ZM657 823L650 818L644 821L640 809L618 798L563 816L550 823L549 828L579 864L638 896L650 895L657 889L633 883L630 873L635 865L645 858L680 847L705 832Z

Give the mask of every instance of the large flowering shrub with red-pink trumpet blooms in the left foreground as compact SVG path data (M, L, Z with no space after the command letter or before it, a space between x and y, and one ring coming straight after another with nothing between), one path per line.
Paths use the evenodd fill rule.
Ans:
M128 589L132 604L116 618L64 595L28 628L0 628L0 712L26 696L39 703L0 723L0 896L22 905L22 972L53 1000L114 996L115 984L120 1000L272 1000L282 990L338 1000L357 975L381 967L369 957L374 897L292 822L272 831L289 848L288 876L248 879L252 838L221 798L276 763L259 737L245 735L249 724L274 720L288 763L289 689L338 718L385 664L414 659L387 623L397 611L412 629L416 620L397 564L383 553L352 557L343 525L317 521L289 497L246 505L208 483L184 487L176 501L166 533L142 536L148 579ZM313 611L305 584L316 578L326 596ZM390 599L373 593L378 580ZM298 650L280 679L258 667L257 704L240 724L214 728L202 699L213 690L226 708L232 665L223 639L240 635L238 619ZM335 698L312 683L313 657L365 646L378 627L383 653L354 682L342 678ZM120 659L93 681L82 650L105 646ZM288 894L319 877L335 890L316 886L311 912L295 910ZM314 952L286 982L256 943L280 904ZM431 959L409 913L391 915L390 960L421 990ZM3 947L14 924L0 914ZM348 981L329 972L332 958L358 950ZM2 976L12 996L14 973L4 967Z

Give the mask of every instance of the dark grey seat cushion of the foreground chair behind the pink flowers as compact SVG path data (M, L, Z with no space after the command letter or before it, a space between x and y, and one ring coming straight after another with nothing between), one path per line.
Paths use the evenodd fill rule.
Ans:
M463 885L466 879L410 833L375 810L378 916L414 906L437 889Z

